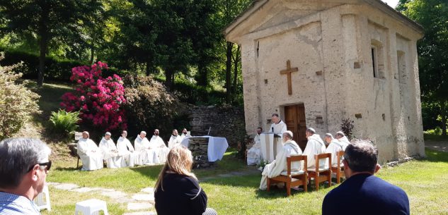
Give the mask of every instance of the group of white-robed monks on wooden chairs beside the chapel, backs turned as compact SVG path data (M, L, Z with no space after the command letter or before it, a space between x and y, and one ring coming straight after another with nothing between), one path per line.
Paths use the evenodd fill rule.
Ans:
M258 134L259 135L259 134ZM333 135L327 133L324 137L325 142L328 143L328 147L321 139L321 136L316 134L316 130L313 128L306 129L306 138L308 142L302 152L297 142L292 140L293 134L291 131L286 130L282 133L282 150L275 156L275 160L271 164L268 164L263 169L262 178L260 181L260 190L267 188L267 179L279 176L282 171L287 169L287 157L291 155L306 155L307 169L316 168L316 154L331 153L331 166L337 166L338 164L338 152L345 151L345 147L350 144L350 141L345 137L344 133L339 131L336 133L336 138ZM260 157L260 159L263 159ZM318 168L328 168L329 164L327 159L321 159L318 161ZM292 171L300 171L300 164L292 164Z

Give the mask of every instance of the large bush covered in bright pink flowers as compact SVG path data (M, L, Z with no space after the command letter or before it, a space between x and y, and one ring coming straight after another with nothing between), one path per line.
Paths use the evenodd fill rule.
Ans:
M91 122L108 131L125 130L125 88L118 75L103 78L103 69L108 69L108 65L100 61L72 68L70 80L76 83L76 91L62 95L61 106L66 111L79 111L84 123Z

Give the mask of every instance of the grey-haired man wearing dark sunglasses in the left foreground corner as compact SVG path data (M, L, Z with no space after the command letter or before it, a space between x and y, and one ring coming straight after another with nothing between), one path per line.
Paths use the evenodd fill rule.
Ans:
M0 142L0 214L40 214L33 199L45 185L51 149L40 140Z

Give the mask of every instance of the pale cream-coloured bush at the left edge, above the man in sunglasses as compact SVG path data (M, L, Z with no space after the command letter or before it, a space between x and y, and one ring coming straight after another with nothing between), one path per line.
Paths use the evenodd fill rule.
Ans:
M3 53L0 61L2 59ZM33 113L40 113L39 95L25 87L27 82L16 82L22 74L13 70L19 66L0 66L0 140L17 133Z

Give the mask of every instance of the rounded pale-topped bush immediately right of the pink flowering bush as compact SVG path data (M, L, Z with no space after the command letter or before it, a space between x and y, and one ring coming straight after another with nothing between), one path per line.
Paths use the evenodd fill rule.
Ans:
M159 128L163 137L171 135L173 121L180 113L178 99L151 76L127 75L123 80L130 133L151 133Z

